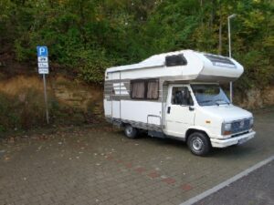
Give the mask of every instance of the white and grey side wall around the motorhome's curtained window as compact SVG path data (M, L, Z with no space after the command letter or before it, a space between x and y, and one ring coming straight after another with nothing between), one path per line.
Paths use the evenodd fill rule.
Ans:
M149 73L149 70L145 72ZM153 77L159 83L157 99L132 99L131 81L136 79L137 75L138 72L135 70L109 74L108 79L105 81L104 91L105 117L118 125L130 123L136 128L160 131L162 130L163 110L162 90L160 87L163 83L160 82L159 78ZM150 79L151 77L145 78Z

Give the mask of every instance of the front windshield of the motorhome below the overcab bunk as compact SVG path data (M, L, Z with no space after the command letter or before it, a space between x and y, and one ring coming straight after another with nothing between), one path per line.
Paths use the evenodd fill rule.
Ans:
M200 106L219 106L230 103L225 92L218 85L196 84L191 87Z

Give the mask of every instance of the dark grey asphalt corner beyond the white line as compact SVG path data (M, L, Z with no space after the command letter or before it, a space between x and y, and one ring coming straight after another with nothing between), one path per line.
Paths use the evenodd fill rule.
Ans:
M194 205L273 205L274 160Z

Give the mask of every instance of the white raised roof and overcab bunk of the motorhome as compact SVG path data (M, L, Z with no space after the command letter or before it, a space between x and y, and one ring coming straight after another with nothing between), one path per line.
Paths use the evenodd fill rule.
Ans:
M181 75L189 80L210 80L212 77L223 78L218 81L235 80L244 71L243 67L233 58L201 53L193 50L181 50L150 56L140 63L121 67L111 67L107 73L130 71L143 68L176 67L182 69ZM163 71L165 76L174 76ZM158 76L156 74L156 76ZM227 80L226 80L227 79Z

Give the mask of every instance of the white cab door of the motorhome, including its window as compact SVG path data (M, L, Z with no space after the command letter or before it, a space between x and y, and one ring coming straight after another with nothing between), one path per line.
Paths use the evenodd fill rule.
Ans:
M195 108L188 85L170 86L165 110L167 135L184 138L186 130L195 124Z

